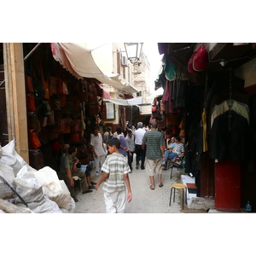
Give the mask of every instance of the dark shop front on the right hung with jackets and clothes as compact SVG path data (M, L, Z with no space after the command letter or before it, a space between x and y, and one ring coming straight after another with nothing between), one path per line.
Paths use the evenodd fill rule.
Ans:
M253 47L159 44L165 55L155 85L164 93L152 117L165 138L183 138L185 172L195 177L197 197L213 198L217 210L256 204Z

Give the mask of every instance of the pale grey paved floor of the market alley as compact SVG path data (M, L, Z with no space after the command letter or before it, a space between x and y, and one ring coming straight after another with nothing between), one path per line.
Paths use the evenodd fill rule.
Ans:
M134 165L134 162L133 162ZM181 170L173 169L172 179L170 179L171 170L162 171L162 183L164 186L158 186L158 177L154 176L154 190L149 189L150 181L146 170L136 169L129 174L132 192L132 201L126 201L125 213L182 213L182 212L206 212L200 210L191 210L186 207L182 209L182 192L177 189L175 193L175 202L172 201L169 207L170 192L172 183L180 183ZM95 176L95 169L91 172L91 180L97 182L101 176ZM77 198L74 213L105 213L105 203L102 190L103 183L98 190L93 189L92 193L82 195L77 190ZM172 193L173 196L173 193ZM173 199L173 197L172 197Z

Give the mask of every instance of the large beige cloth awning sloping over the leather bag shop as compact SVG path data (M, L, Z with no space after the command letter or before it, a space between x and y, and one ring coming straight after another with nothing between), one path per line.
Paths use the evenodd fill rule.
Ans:
M50 43L50 47L55 61L59 61L62 67L73 73L76 78L97 79L102 84L111 85L119 90L125 90L129 93L137 92L137 89L131 84L127 86L121 83L119 74L103 73L97 67L90 49L74 43Z

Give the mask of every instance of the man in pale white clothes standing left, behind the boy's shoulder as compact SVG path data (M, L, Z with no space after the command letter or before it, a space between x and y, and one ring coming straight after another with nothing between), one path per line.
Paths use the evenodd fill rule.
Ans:
M99 133L97 128L94 129L94 134L90 137L90 145L95 162L96 176L99 176L100 164L103 166L106 158L106 149L104 148L102 134Z

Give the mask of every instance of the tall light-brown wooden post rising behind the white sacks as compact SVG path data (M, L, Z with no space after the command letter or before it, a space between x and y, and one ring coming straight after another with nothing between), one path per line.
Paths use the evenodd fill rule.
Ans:
M26 87L21 43L3 43L9 141L15 138L17 153L29 164Z

